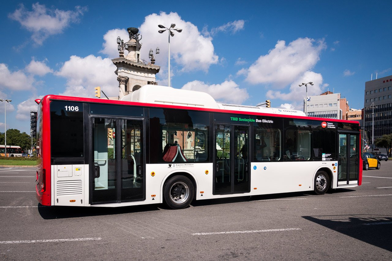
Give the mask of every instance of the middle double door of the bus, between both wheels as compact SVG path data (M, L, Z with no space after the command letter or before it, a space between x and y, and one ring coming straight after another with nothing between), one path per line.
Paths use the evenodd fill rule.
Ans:
M249 126L215 124L214 194L250 191Z

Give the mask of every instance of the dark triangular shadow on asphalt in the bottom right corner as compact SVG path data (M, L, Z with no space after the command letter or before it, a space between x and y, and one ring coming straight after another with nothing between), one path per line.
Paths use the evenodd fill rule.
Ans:
M374 214L303 216L306 220L392 251L392 217Z

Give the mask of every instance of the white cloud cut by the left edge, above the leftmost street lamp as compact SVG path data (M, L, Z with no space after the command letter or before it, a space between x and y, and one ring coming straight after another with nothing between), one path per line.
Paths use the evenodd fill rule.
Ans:
M34 78L27 76L21 70L11 72L7 65L0 63L0 88L9 90L30 90L33 88Z

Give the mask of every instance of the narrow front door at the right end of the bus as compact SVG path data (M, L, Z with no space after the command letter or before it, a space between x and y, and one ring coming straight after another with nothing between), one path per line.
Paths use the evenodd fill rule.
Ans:
M339 133L338 185L357 184L359 176L359 134Z

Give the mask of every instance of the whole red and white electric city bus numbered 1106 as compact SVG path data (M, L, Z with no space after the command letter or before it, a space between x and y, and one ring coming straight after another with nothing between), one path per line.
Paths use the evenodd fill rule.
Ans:
M146 85L37 99L42 205L120 207L361 185L359 122Z

